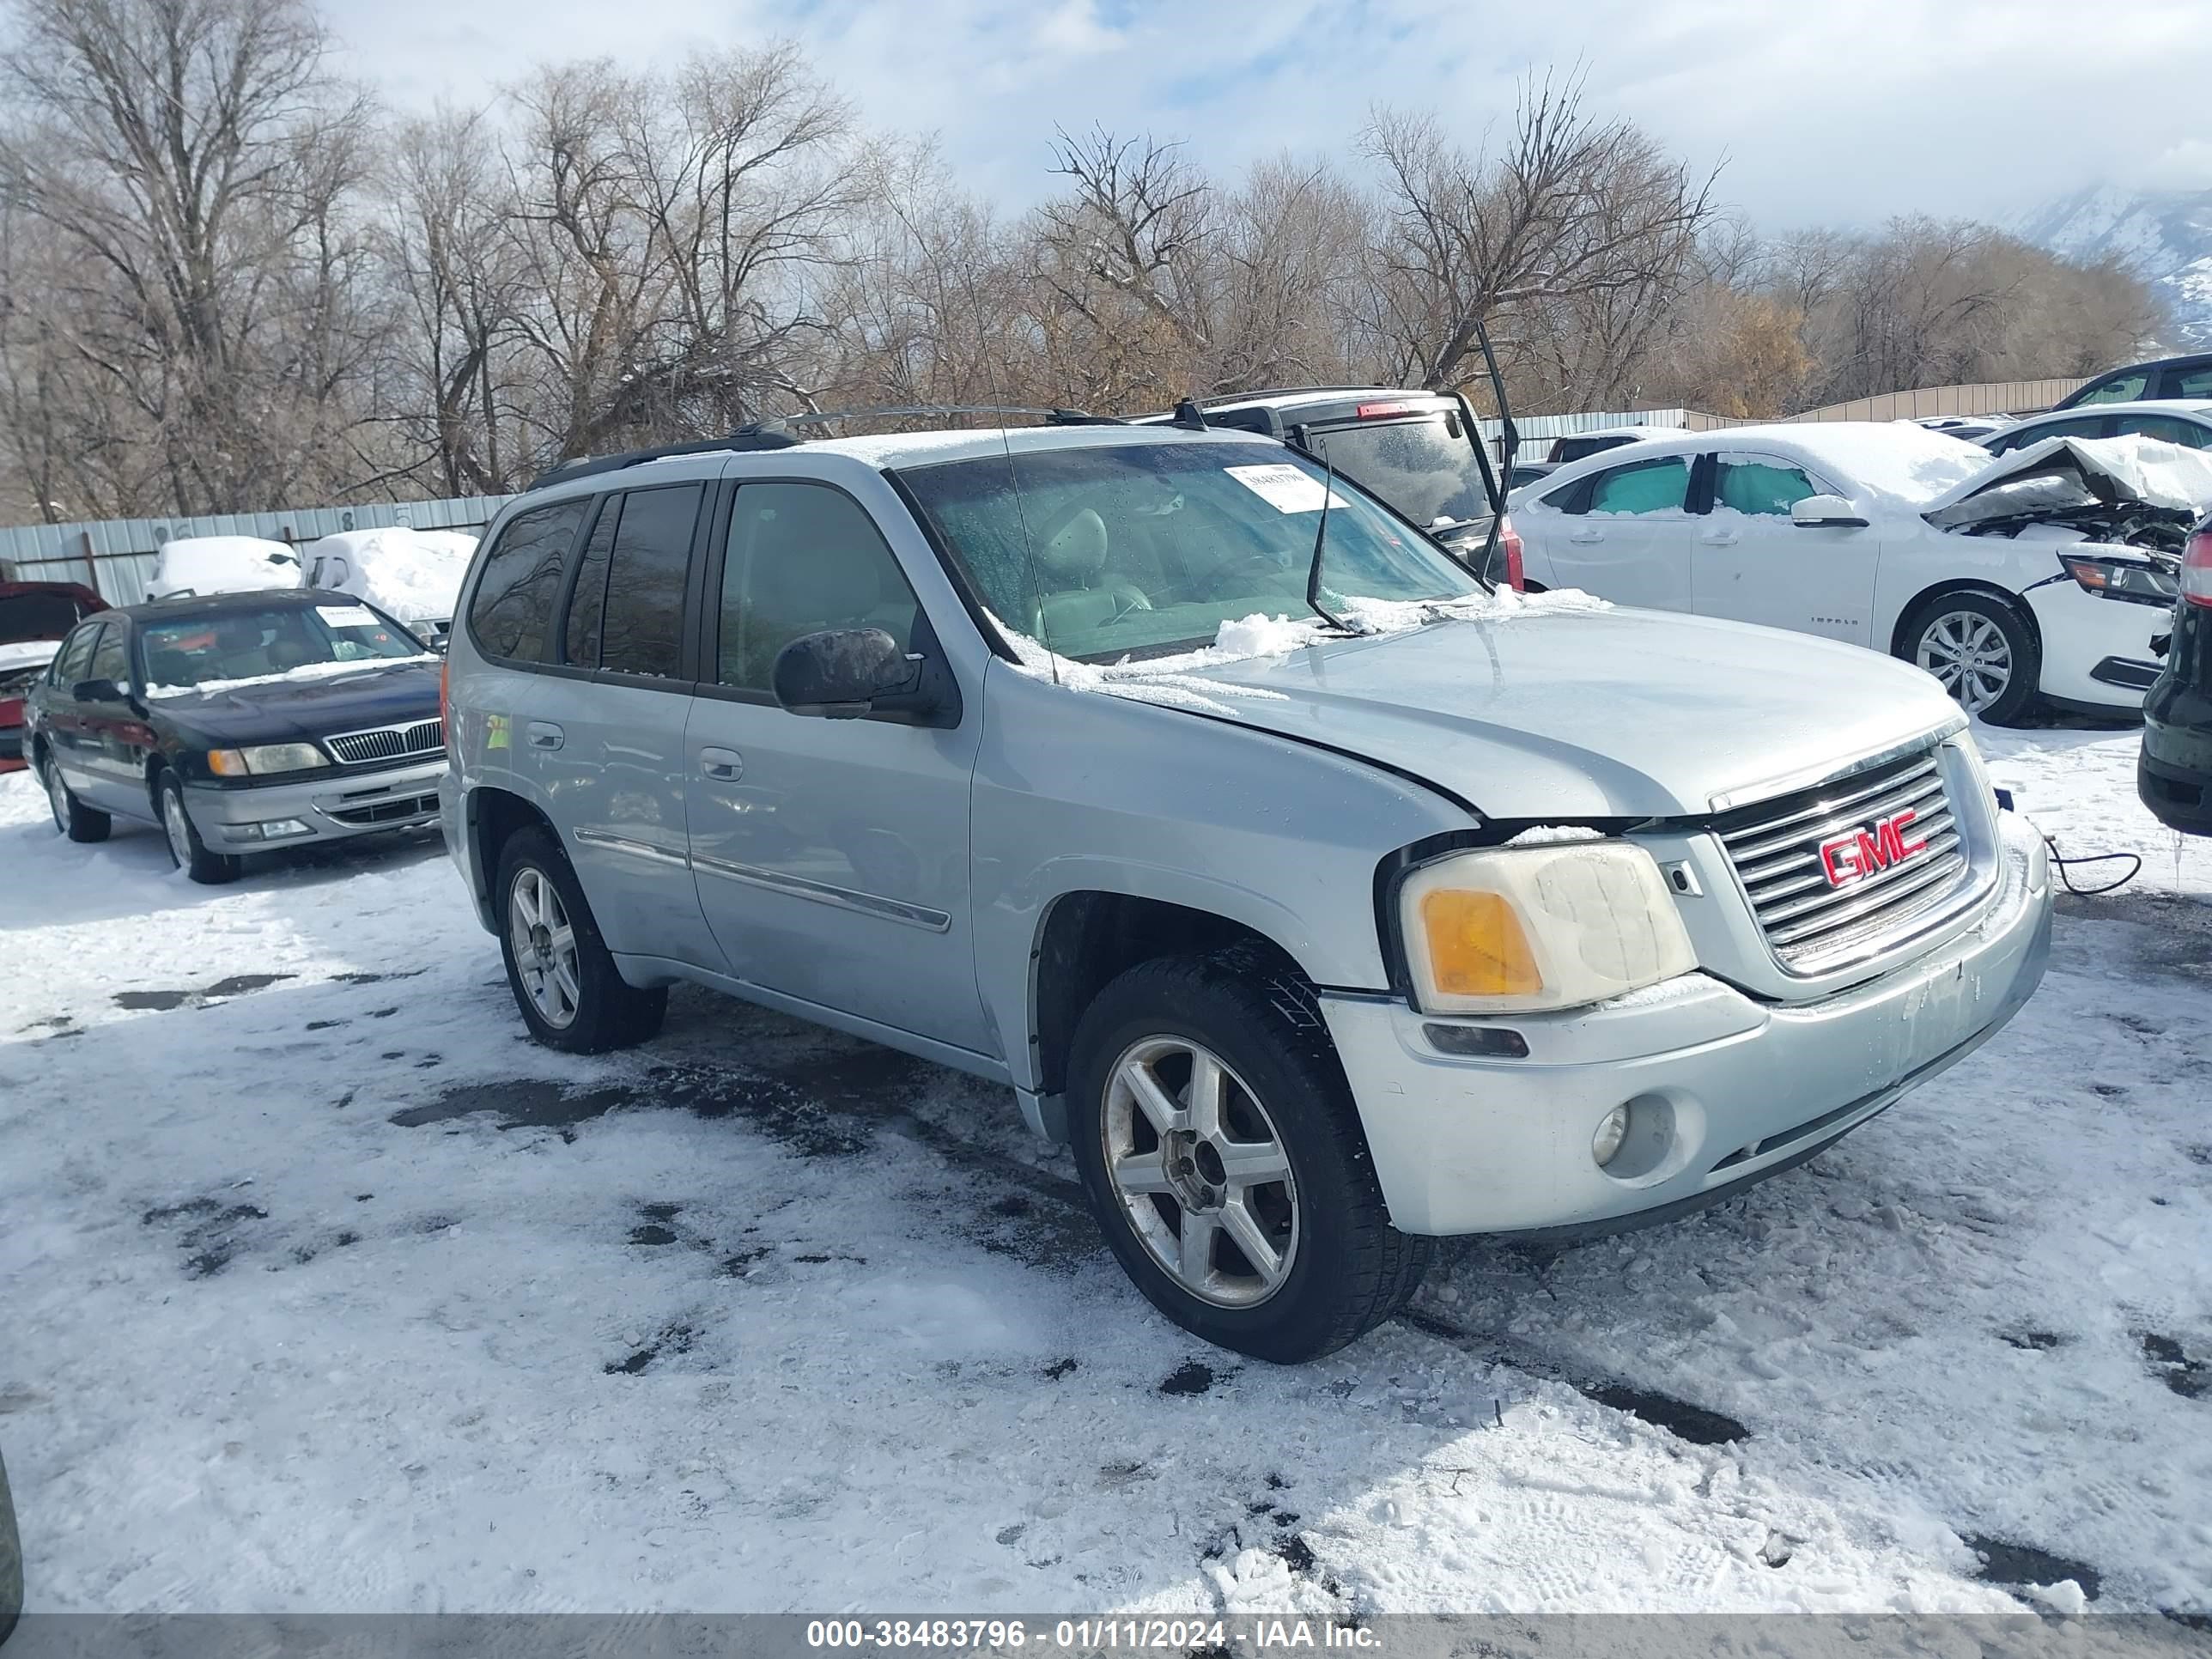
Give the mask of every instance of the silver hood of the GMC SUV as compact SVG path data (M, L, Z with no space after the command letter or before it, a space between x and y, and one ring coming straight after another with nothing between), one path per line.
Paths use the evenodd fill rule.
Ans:
M1440 622L1206 668L1232 717L1369 757L1486 818L1703 816L1958 726L1918 668L1657 611Z

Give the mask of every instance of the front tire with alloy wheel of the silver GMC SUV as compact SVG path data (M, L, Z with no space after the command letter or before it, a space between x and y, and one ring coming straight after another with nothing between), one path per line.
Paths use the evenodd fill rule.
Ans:
M1141 962L1099 991L1068 1130L1137 1290L1239 1354L1343 1347L1405 1305L1436 1248L1389 1223L1312 989L1250 953Z

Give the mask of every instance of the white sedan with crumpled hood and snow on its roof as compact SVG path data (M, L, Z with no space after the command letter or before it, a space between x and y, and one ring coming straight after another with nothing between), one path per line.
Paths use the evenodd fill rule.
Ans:
M1531 586L1845 639L1989 721L2132 712L2212 458L2148 438L1989 456L1911 422L1650 438L1513 498Z

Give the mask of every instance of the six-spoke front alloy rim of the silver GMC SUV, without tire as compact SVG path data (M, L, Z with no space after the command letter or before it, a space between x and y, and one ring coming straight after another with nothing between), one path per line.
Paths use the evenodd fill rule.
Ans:
M1192 1296L1256 1307L1298 1252L1298 1188L1259 1095L1190 1037L1130 1044L1106 1082L1106 1179Z

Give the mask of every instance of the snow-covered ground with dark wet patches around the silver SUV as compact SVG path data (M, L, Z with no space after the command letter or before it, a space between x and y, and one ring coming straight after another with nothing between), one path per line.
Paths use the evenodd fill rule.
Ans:
M564 1060L434 845L199 889L0 779L31 1606L2208 1615L2212 843L2132 732L1984 745L2146 856L2011 1031L1303 1369L1159 1321L1002 1091L703 993Z

